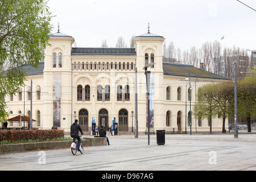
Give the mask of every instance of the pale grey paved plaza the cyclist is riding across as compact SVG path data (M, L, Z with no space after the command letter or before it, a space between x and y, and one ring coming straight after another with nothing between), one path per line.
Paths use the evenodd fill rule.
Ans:
M85 136L91 137L91 136ZM110 146L85 147L84 154L63 150L0 155L0 170L256 170L256 135L108 136Z

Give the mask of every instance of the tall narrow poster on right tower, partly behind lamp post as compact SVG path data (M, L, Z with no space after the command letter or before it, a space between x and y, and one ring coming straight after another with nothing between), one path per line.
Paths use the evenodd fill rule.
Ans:
M150 127L154 127L154 73L150 74ZM148 96L147 96L148 98ZM146 114L147 114L147 106L148 100L146 100ZM146 127L148 127L146 122Z

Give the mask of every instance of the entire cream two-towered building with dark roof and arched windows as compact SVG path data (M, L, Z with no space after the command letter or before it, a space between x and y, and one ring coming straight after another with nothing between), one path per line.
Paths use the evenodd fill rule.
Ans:
M136 36L135 48L77 48L75 39L59 31L50 36L45 59L39 68L22 65L26 70L26 86L13 96L6 96L9 113L29 115L32 80L33 127L51 129L56 125L69 132L74 119L85 134L91 134L92 118L96 125L112 126L118 123L119 134L131 134L135 126L135 69L138 76L138 131L146 127L146 76L144 65L155 63L151 71L151 114L154 127L166 133L189 132L189 101L185 99L190 74L191 107L196 103L196 90L204 84L229 81L192 65L163 63L163 36L147 34ZM152 92L152 90L154 92ZM188 92L187 92L188 96ZM186 111L187 104L187 111ZM74 111L76 114L74 114ZM132 114L133 113L133 114ZM186 114L187 113L187 114ZM22 123L23 126L23 123ZM26 124L27 126L27 124ZM225 123L228 129L228 122ZM8 127L20 127L9 123ZM212 131L222 130L222 120L214 118ZM133 129L134 131L134 129ZM192 131L209 131L207 119L198 121L192 113Z

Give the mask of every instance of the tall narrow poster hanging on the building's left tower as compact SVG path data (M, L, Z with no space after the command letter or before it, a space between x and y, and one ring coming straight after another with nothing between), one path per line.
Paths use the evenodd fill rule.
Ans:
M53 126L60 127L60 73L53 73Z

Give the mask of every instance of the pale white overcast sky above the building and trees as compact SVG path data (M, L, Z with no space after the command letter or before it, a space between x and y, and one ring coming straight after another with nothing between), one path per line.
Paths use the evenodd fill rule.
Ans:
M256 9L255 0L240 0ZM256 11L236 0L49 0L52 33L75 38L77 47L101 47L106 39L115 47L119 36L127 45L131 36L150 32L189 49L219 40L223 47L256 49ZM222 36L225 36L221 40Z

